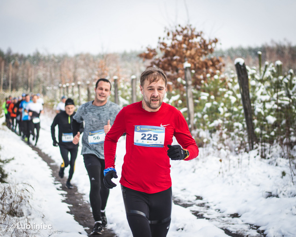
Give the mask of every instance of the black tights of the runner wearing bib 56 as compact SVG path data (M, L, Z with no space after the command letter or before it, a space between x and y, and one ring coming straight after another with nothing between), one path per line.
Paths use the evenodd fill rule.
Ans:
M83 154L83 160L91 184L89 201L94 221L99 221L101 220L101 210L105 209L109 196L109 188L106 188L103 182L105 160L94 154Z

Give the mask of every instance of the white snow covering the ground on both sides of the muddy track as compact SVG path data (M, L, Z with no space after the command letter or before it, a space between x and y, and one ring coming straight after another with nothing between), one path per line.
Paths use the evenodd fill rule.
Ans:
M52 146L52 120L52 115L41 115L42 129L37 147L59 165L62 158L59 148ZM3 121L2 118L0 123ZM119 177L125 154L124 139L121 137L117 146L115 164ZM32 210L26 209L28 222L52 225L52 230L62 231L52 236L86 236L83 227L67 213L69 208L62 202L62 191L57 190L61 184L54 184L49 167L36 152L5 126L0 127L0 144L1 159L14 157L4 166L9 173L7 181L13 184L28 183L33 187L27 185L33 206ZM80 151L81 146L72 183L88 201L89 178ZM296 186L292 184L287 160L280 157L262 160L256 151L233 156L208 147L200 148L200 154L194 160L172 161L171 165L173 196L191 205L184 208L173 204L168 237L224 237L227 235L221 228L225 227L232 232L242 231L245 236L256 236L258 233L255 230L246 229L246 223L260 226L268 237L296 236ZM66 177L68 169L65 170ZM283 176L284 173L286 175ZM108 228L113 229L119 237L131 237L119 178L114 182L118 186L110 190L106 207ZM197 197L202 197L202 200ZM203 213L206 218L197 219L192 212L200 210L203 204L207 206L206 213ZM236 217L229 217L231 214ZM228 224L221 223L221 216L231 220ZM3 234L4 226L0 224L0 227ZM48 236L47 231L40 233Z

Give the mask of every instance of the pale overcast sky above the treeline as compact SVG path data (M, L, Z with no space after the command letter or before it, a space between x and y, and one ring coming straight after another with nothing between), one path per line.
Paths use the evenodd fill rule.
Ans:
M296 44L295 0L0 0L0 49L70 55L156 47L188 21L219 46Z

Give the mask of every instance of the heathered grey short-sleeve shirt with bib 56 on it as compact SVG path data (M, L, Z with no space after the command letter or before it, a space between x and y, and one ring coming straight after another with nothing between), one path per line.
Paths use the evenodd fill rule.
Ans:
M85 122L81 154L94 154L104 159L104 125L107 125L110 119L112 126L120 107L109 100L102 106L95 106L92 102L79 106L73 119L78 123Z

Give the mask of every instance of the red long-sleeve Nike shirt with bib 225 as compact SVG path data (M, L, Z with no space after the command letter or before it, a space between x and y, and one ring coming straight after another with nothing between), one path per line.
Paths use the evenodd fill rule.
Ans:
M124 107L106 134L105 169L115 167L116 145L124 132L126 154L120 183L133 190L157 193L171 187L167 145L172 144L173 136L182 148L189 151L186 161L198 156L198 147L180 111L167 103L162 103L158 111L148 112L142 108L140 101Z

